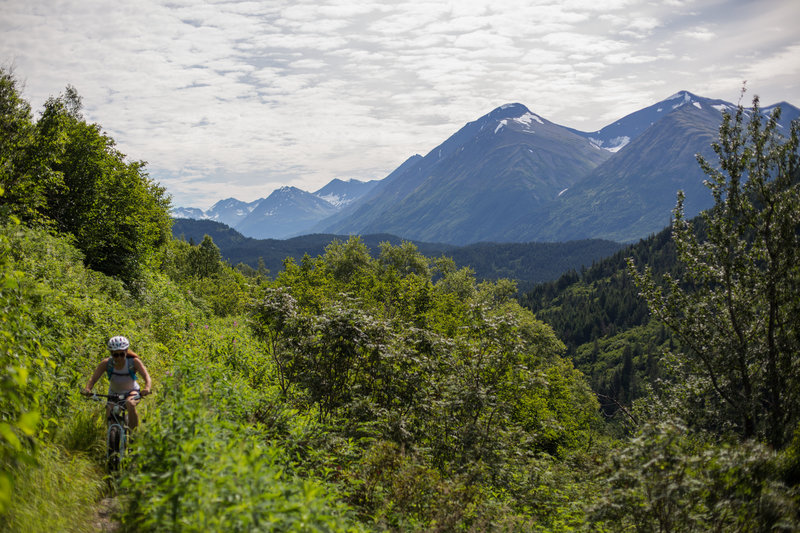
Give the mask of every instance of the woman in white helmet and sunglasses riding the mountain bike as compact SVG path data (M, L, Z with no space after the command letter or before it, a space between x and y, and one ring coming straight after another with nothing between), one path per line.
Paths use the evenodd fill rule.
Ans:
M127 399L125 407L128 410L128 426L133 429L139 424L139 415L136 412L136 405L142 396L150 394L150 374L147 372L147 367L144 366L142 360L130 349L131 343L123 336L112 337L108 341L108 349L111 352L111 357L103 359L94 374L89 378L89 382L83 389L83 394L91 394L92 387L97 381L103 377L103 374L108 375L108 393L109 394L125 394ZM137 374L144 377L144 388L139 387ZM107 415L111 412L111 405L107 407Z

